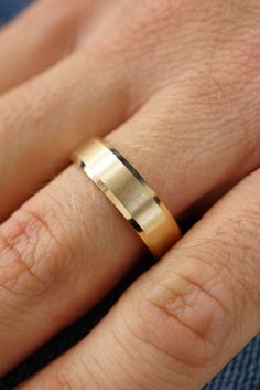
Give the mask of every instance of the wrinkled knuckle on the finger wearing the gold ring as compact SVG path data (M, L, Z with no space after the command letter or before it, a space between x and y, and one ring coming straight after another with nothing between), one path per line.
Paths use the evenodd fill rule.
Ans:
M57 224L57 222L56 222ZM0 285L15 294L46 291L57 270L62 246L43 205L17 211L0 230ZM58 226L58 229L61 229Z

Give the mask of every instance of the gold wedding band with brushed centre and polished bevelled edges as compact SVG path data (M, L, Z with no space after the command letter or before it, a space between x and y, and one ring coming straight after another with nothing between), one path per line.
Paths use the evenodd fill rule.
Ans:
M165 204L107 141L90 138L75 150L72 159L130 222L156 259L181 238Z

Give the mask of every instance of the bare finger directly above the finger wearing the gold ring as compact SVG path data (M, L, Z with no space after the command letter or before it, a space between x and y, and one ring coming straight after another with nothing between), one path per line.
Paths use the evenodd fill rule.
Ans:
M67 165L87 136L122 122L126 87L115 72L75 53L0 99L1 221Z

